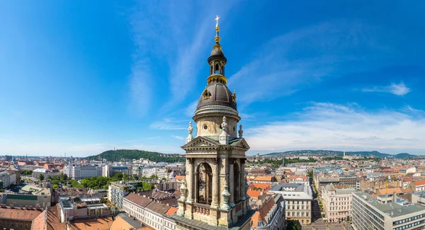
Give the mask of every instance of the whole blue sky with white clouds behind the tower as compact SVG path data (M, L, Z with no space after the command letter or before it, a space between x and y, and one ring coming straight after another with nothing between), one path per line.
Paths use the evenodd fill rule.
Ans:
M220 19L259 151L425 154L421 1L1 1L0 154L183 153Z

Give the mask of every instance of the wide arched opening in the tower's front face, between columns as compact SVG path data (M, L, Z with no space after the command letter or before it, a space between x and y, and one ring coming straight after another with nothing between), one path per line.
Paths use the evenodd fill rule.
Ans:
M200 163L196 168L196 201L211 205L212 201L212 169L208 163Z

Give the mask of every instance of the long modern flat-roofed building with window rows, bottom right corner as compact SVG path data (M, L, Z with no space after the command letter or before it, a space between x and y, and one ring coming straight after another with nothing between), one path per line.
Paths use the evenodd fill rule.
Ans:
M355 230L424 229L425 207L417 203L400 205L383 204L366 192L353 192L353 227Z

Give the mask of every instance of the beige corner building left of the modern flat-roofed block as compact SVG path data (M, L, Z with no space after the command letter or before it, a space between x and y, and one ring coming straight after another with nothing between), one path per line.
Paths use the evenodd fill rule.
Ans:
M351 195L356 190L346 185L322 186L322 203L329 222L351 219Z

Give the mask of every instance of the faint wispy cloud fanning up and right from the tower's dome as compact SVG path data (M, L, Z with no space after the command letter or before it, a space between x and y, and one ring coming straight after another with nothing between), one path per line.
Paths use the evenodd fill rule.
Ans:
M387 52L375 34L375 28L361 21L329 21L293 30L259 46L251 62L230 76L229 86L237 88L242 104L248 104L358 71L363 67L355 69L349 63L366 62ZM358 55L360 50L370 55Z

